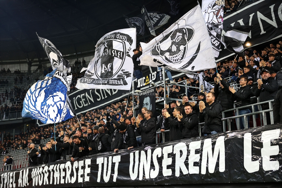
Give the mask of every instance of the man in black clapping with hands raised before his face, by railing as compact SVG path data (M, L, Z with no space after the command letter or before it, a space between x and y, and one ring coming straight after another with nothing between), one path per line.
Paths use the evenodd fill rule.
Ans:
M214 94L216 95L216 102L222 105L222 111L232 109L234 106L235 97L231 91L229 91L230 84L217 74L218 78L214 84ZM221 89L219 88L221 87ZM233 111L225 112L225 117L232 117ZM233 119L230 119L231 130L235 130Z

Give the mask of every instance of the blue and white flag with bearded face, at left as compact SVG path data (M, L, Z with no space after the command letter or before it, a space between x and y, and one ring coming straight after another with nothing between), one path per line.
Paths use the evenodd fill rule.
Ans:
M23 101L23 117L39 119L43 124L59 123L74 116L67 92L72 75L53 70L44 80L29 88Z

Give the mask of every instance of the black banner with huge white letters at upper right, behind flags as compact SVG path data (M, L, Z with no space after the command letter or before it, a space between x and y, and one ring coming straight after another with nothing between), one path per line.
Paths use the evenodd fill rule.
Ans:
M281 1L260 0L247 3L238 8L237 11L223 16L224 32L222 31L222 33L227 32L227 27L252 25L245 45L248 43L252 47L270 40L279 40L282 37L281 10ZM247 48L245 45L244 48ZM231 54L232 52L224 49L220 51L217 61L224 60Z

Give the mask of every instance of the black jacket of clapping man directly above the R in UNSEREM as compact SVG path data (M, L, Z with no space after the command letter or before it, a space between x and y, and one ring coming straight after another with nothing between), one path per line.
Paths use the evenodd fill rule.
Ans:
M178 125L177 117L168 117L165 122L166 128L169 128L169 141L183 139L182 127Z

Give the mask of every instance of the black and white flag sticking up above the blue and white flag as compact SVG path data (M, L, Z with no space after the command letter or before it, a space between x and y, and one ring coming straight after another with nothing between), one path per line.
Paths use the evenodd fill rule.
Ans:
M61 52L57 50L53 43L40 36L38 36L38 39L51 62L53 70L57 69L57 71L62 71L63 73L70 73L70 62L63 58Z

